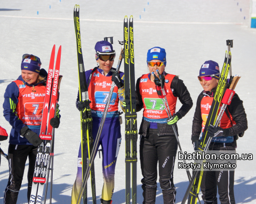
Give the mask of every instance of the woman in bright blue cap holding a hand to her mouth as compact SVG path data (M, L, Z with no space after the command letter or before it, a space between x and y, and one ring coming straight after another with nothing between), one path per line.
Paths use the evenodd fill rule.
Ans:
M157 163L159 163L159 183L163 192L164 204L175 202L175 186L173 183L173 166L177 152L177 141L172 125L178 131L177 121L185 116L193 106L190 94L177 76L165 72L166 53L161 47L148 50L147 64L149 73L143 74L136 83L137 112L143 108L143 118L140 125L140 164L143 175L143 203L155 203L157 189ZM156 84L151 74L156 77L164 75L166 99L173 115L168 121L164 104L156 92ZM159 76L158 76L159 78ZM182 106L175 112L177 98Z

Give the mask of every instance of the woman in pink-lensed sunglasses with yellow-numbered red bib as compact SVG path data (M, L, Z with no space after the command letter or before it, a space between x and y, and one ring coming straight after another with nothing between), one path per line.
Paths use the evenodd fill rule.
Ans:
M214 61L206 61L200 71L198 79L203 87L196 102L191 140L197 150L201 139L207 115L216 92L220 77L219 65ZM237 134L247 129L247 119L243 107L243 101L235 94L231 104L227 106L223 114L220 126L209 126L207 136L213 137L209 150L225 151L236 149ZM226 151L226 152L228 152ZM234 197L234 171L222 169L221 171L204 171L201 191L205 203L217 204L217 186L220 202L235 203Z

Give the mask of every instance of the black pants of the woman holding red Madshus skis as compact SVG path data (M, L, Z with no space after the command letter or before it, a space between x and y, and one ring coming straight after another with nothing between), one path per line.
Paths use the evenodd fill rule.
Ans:
M37 147L33 145L9 145L9 181L4 192L4 204L15 204L18 199L27 157L28 166L28 201L30 198L33 175L36 163Z

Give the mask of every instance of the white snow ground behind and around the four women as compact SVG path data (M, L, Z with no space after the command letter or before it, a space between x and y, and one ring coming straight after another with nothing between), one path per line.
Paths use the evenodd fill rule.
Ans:
M149 3L149 4L148 4ZM94 45L103 37L114 36L114 49L120 50L117 40L123 40L124 15L134 17L135 77L147 73L146 53L154 46L163 47L167 53L166 71L177 74L182 79L196 103L201 92L197 75L206 60L214 60L222 66L226 40L234 39L232 70L242 75L236 92L244 101L249 129L244 138L238 140L238 150L255 151L256 142L252 127L256 125L255 91L255 53L256 30L250 28L249 0L183 0L183 1L66 1L62 0L10 0L0 2L0 104L7 84L20 75L21 56L25 53L41 58L42 67L48 69L52 46L62 46L61 71L63 79L60 89L61 124L55 131L55 157L53 199L56 203L70 203L71 188L77 171L77 154L80 141L79 112L75 107L78 89L77 54L73 23L73 8L80 5L82 49L85 69L92 69ZM51 6L51 8L50 8ZM144 11L145 8L145 11ZM38 12L38 14L37 14ZM141 16L141 19L140 19ZM253 60L254 59L254 60ZM114 63L116 65L117 62ZM123 66L121 67L123 71ZM14 74L13 74L14 73ZM177 105L179 109L180 103ZM192 150L190 141L191 124L195 105L179 121L179 139L183 151ZM2 106L0 112L3 112ZM138 113L138 128L142 112ZM124 117L123 117L124 118ZM10 132L9 123L3 116L0 124ZM115 176L113 203L125 202L125 141L119 151ZM1 142L7 152L8 141ZM139 141L138 141L139 147ZM235 198L237 203L256 203L255 164L242 163L242 171L235 174ZM7 184L7 160L2 159L0 167L0 203ZM97 203L100 203L102 174L101 159L95 159ZM138 163L138 203L142 203L142 178ZM177 187L176 202L180 203L187 189L188 179L185 170L174 170L174 183ZM17 203L26 203L26 175L22 183ZM49 194L48 194L49 195ZM89 191L89 200L91 194ZM92 203L92 201L89 201ZM162 191L157 191L156 203L163 203Z

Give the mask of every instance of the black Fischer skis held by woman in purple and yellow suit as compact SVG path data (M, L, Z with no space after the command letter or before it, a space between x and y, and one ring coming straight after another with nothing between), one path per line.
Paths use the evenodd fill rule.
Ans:
M82 177L86 173L87 169L87 153L89 160L91 157L93 138L92 138L92 115L88 96L88 87L85 78L83 54L81 47L81 32L79 21L79 5L75 5L74 8L74 24L76 32L76 45L77 45L77 61L78 61L78 78L79 78L79 101L85 108L80 112L81 115L81 150L82 150ZM91 163L91 186L92 186L92 200L93 204L96 204L96 187L95 187L95 173L94 163ZM87 186L83 193L84 204L87 203Z

